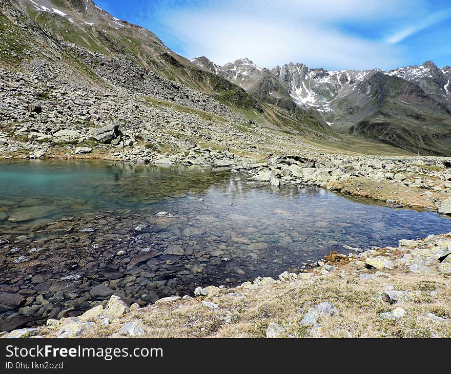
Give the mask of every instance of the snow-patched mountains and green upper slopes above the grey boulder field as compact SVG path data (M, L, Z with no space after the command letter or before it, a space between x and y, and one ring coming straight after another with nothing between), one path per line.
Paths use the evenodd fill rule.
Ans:
M151 31L92 0L0 0L0 10L4 65L35 55L58 58L89 79L153 96L165 92L182 105L188 99L181 91L197 92L237 116L294 135L324 142L352 136L411 153L451 154L449 66L427 61L392 71L327 71L289 63L267 69L249 58L218 66L207 57L176 54ZM118 60L127 68L119 69ZM195 105L204 110L202 100Z

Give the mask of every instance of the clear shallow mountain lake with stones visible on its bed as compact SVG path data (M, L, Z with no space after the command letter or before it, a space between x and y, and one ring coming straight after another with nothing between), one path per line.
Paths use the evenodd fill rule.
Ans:
M110 291L148 303L198 285L298 271L333 250L349 252L344 244L394 245L449 231L451 220L435 213L317 188L272 189L229 171L0 162L0 292L29 297L20 305L28 315L68 306L76 314ZM97 285L109 290L93 291ZM39 294L51 310L34 300Z

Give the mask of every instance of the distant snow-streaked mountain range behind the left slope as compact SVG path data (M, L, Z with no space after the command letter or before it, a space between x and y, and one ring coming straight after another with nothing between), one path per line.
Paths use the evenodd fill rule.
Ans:
M290 63L271 70L248 58L219 67L192 60L281 108L318 111L334 129L412 152L451 150L451 69L432 61L392 71L326 71Z

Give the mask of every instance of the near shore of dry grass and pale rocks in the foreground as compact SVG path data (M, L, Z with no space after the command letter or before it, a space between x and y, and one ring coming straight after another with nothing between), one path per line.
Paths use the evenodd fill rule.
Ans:
M145 307L138 304L128 307L113 295L105 306L98 305L81 316L49 319L46 326L13 330L3 333L2 337L242 337L257 334L267 338L318 338L342 334L346 337L382 337L391 336L393 331L405 337L451 337L451 309L446 302L451 294L448 283L450 248L451 233L448 233L419 240L400 240L398 247L374 247L348 255L332 252L323 261L318 261L317 267L299 274L284 272L277 280L258 277L235 288L198 287L194 297L166 297ZM330 283L325 286L330 288L328 292L317 292L310 295L312 299L309 300L296 300L299 290L324 287L327 282ZM355 289L342 289L336 294L335 282ZM401 289L401 285L410 288ZM362 290L371 294L368 300L355 297L356 292ZM284 304L286 295L292 300ZM346 297L347 310L342 308L341 296ZM255 300L260 297L269 299L268 310L263 315L264 302ZM273 299L277 303L274 314L285 314L285 320L269 313L270 307L274 306ZM315 303L315 300L322 301ZM366 305L368 302L378 307L371 310ZM256 313L254 304L260 311L258 316L253 315ZM291 310L293 304L296 307ZM243 305L248 309L242 309ZM370 320L360 321L362 326L370 324L371 331L352 326L354 320L350 315L355 311L371 315ZM186 314L192 316L189 323L184 320ZM248 321L255 323L256 317L262 319L258 333ZM361 319L361 316L353 317ZM207 321L215 327L207 326Z

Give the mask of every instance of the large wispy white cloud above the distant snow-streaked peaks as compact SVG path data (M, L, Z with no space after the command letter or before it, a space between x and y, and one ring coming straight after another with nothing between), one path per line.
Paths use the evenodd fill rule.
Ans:
M392 69L405 59L396 40L415 30L405 28L388 38L384 31L413 19L413 14L424 14L425 4L424 0L167 0L149 14L163 26L163 40L179 46L178 53L189 58L205 55L219 65L249 57L268 68L295 61L327 69ZM346 31L352 30L349 25L372 32L352 33Z

